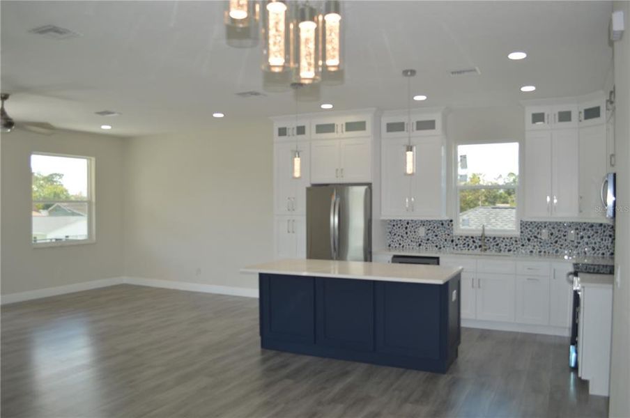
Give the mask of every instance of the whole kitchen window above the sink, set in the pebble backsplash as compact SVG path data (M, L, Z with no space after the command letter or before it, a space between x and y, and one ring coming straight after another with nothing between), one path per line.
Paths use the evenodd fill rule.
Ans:
M518 142L457 146L456 230L518 231Z

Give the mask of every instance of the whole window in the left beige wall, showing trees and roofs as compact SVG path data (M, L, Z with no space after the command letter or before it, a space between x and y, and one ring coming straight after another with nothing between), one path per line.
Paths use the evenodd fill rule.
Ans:
M31 155L33 245L94 240L93 166L89 157Z

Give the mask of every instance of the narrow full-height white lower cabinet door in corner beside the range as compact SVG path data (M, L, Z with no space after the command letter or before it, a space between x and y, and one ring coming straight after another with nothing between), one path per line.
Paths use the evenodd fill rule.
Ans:
M573 304L573 286L567 281L567 273L573 271L570 263L553 263L551 266L549 325L570 327Z

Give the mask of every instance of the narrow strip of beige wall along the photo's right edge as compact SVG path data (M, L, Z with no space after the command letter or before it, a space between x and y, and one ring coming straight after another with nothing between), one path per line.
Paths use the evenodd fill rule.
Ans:
M610 364L610 416L630 417L630 3L615 1L624 10L626 33L615 42L615 141L617 153L617 212L613 293L613 353Z

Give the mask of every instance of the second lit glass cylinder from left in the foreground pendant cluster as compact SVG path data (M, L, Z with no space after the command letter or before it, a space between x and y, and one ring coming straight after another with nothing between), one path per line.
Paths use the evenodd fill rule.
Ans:
M289 68L291 13L286 1L268 0L263 8L263 70L282 72Z

